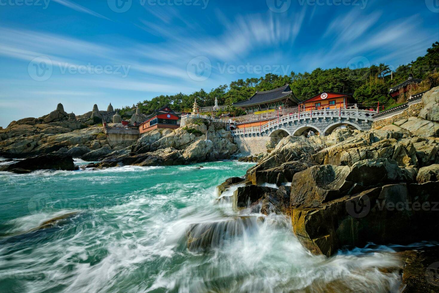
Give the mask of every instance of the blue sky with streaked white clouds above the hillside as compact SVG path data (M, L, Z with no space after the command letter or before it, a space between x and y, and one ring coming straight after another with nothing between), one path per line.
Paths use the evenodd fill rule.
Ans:
M268 72L396 68L439 40L438 11L438 0L0 0L0 126L58 102L79 115Z

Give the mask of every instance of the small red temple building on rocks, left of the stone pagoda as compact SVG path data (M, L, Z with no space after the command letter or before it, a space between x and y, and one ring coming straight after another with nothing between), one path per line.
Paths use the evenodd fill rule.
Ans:
M180 124L178 123L180 116L181 113L173 111L169 108L169 105L154 110L151 115L146 117L147 120L139 125L140 136L157 128L176 129L180 127Z

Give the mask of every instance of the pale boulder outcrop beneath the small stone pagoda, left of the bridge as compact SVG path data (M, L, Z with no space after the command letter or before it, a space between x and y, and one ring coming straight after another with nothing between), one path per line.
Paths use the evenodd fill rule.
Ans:
M185 127L176 130L153 130L131 148L112 152L90 167L169 166L229 159L237 151L237 145L225 125L201 121L188 121Z

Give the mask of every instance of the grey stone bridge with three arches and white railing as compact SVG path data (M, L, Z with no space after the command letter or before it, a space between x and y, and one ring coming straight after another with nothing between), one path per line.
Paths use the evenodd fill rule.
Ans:
M268 122L264 121L259 126L232 130L232 135L241 152L254 154L266 152L265 145L270 137L277 137L280 133L299 136L311 129L320 136L326 136L342 125L358 130L369 130L373 122L372 116L376 113L358 108L290 113ZM252 125L254 124L253 122Z

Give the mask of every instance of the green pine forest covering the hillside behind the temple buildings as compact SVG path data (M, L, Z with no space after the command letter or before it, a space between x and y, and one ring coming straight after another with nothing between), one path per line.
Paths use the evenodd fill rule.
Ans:
M233 102L250 98L255 91L272 90L286 83L290 84L295 96L301 100L319 92L332 91L354 94L354 98L362 105L373 106L379 101L380 105L389 108L401 102L398 101L398 97L390 97L388 94L390 87L407 80L410 73L413 73L414 78L425 80L423 87L436 87L439 85L438 68L439 42L435 42L431 48L427 49L425 56L418 57L407 65L400 65L392 72L392 75L389 66L385 63L359 69L317 68L311 73L291 72L288 76L269 73L260 78L233 81L229 86L220 85L209 92L201 89L192 94L180 92L173 95L160 95L151 100L138 102L137 105L126 106L119 109L119 112L122 117L128 118L126 112L135 107L139 107L144 114L150 114L166 104L171 105L176 111L190 112L195 98L200 107L214 105L215 98L218 99L219 105L231 105ZM241 112L234 107L229 107L229 110L234 116Z

